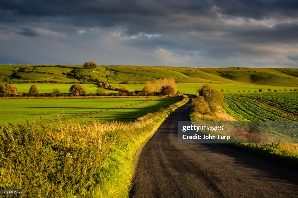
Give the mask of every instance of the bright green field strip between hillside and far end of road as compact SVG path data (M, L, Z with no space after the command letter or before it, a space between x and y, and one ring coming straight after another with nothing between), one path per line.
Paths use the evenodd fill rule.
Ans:
M195 94L196 90L206 83L177 83L177 89L181 93L190 93L190 94ZM129 90L142 90L145 86L145 84L111 84L113 87L125 87L126 89ZM226 90L230 90L230 92L238 92L240 90L243 92L243 90L251 90L252 92L258 91L259 89L263 89L263 91L267 91L268 88L271 89L282 89L284 90L285 88L290 90L290 89L297 89L297 87L276 87L276 86L265 86L265 85L238 85L238 84L210 84L212 87L214 87L217 90L224 89L225 93Z

